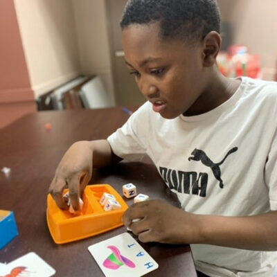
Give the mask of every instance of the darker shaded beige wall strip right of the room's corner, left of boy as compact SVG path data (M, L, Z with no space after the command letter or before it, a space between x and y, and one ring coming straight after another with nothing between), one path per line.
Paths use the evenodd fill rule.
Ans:
M71 1L75 15L82 73L99 75L114 102L105 1Z

